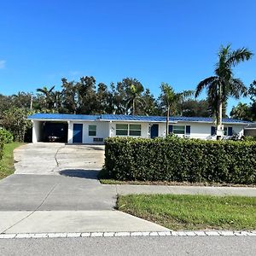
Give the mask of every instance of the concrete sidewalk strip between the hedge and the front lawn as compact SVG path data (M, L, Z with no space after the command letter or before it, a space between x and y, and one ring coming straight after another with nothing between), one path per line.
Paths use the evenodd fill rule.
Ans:
M173 194L173 195L239 195L256 196L256 188L251 187L203 187L165 185L102 185L115 188L117 195L130 194Z

